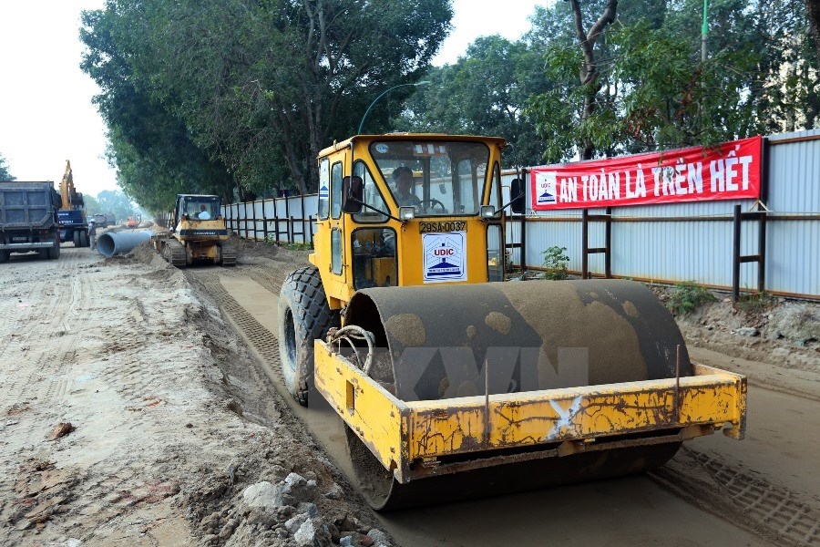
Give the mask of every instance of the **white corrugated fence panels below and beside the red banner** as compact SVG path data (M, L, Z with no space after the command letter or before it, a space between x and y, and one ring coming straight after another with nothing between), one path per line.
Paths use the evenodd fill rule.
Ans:
M806 138L815 138L799 140ZM820 130L769 137L765 288L770 292L820 298ZM797 139L797 140L795 140ZM508 185L516 174L505 171ZM508 189L505 188L508 192ZM731 287L733 209L756 210L753 200L619 207L612 210L611 269L619 277ZM589 214L604 213L590 209ZM813 219L804 218L812 215ZM650 220L640 220L651 217ZM682 218L697 217L692 220ZM670 219L659 222L656 219ZM790 220L782 220L782 219ZM566 222L543 222L566 219ZM781 219L781 220L779 220ZM569 269L581 271L583 242L579 210L534 212L528 195L528 267L543 265L543 252L566 247ZM521 242L521 225L511 222L507 243ZM605 244L604 222L590 222L589 247ZM758 223L743 221L741 254L758 253ZM520 264L518 249L512 261ZM589 271L604 273L604 255L589 255ZM742 263L740 286L758 286L757 263Z

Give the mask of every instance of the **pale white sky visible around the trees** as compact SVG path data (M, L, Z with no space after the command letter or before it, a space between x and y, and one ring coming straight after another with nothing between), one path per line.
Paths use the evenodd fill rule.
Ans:
M550 0L453 0L453 30L434 65L455 63L478 36L517 40L536 5ZM17 181L55 181L71 161L77 191L118 190L105 159L106 127L91 99L97 84L79 68L80 12L105 0L0 0L0 155Z

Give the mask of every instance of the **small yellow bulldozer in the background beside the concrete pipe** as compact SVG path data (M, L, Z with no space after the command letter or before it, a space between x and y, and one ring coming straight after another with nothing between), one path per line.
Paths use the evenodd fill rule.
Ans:
M172 226L152 239L157 252L169 263L178 268L200 263L236 265L236 249L228 244L219 196L178 194Z

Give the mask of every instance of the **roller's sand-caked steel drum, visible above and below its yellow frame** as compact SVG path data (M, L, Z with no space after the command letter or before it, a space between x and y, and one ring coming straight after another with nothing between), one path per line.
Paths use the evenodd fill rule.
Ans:
M405 402L690 376L682 335L642 284L620 280L365 289L345 315L374 335L370 376ZM681 442L513 461L400 485L348 430L378 509L648 470Z

